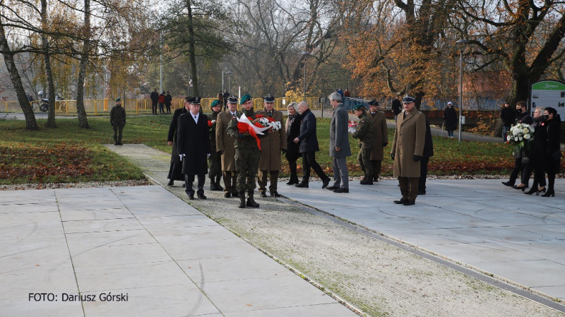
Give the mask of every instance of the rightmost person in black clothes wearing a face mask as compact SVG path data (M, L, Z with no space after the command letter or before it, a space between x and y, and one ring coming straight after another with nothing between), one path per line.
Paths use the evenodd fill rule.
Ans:
M532 189L537 187L541 178L544 177L544 172L547 172L547 192L542 197L555 197L555 174L559 172L559 163L562 156L559 140L560 128L561 118L557 114L557 110L552 107L545 108L542 122L537 126L534 134L532 158L530 160L535 171ZM538 190L536 194L544 190Z

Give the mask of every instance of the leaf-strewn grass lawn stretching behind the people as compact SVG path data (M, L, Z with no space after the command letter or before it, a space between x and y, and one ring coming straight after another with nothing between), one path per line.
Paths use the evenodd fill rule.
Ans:
M167 132L172 116L129 116L124 128L124 144L143 143L170 152ZM24 121L0 121L0 184L66 183L80 181L117 181L143 179L143 173L102 144L113 143L112 126L107 118L89 117L89 129L78 128L78 119L57 119L57 128L44 128L38 120L38 131L26 131ZM316 158L326 172L331 172L328 156L330 119L318 119L320 152ZM393 139L389 130L388 143ZM357 140L350 138L352 157L347 158L350 175L362 172L357 164ZM390 152L391 145L385 148ZM301 160L299 160L299 163ZM475 143L434 136L434 157L429 173L508 174L513 167L509 145ZM383 176L392 175L391 158L385 154ZM282 176L288 175L283 160Z

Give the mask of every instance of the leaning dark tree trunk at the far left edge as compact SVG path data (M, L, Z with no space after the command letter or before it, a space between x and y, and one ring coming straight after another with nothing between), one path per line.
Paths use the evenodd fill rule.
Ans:
M4 25L2 24L1 20L0 49L4 52L10 52L8 40L6 40L6 33L4 32ZM28 130L37 130L37 121L35 121L35 114L33 113L33 108L31 107L30 100L28 100L28 96L25 94L25 89L23 88L20 73L18 73L18 68L16 68L16 63L13 60L13 54L4 53L4 63L6 64L6 68L8 68L10 80L12 81L14 90L16 90L16 94L18 95L18 102L20 103L23 115L25 116L25 128Z

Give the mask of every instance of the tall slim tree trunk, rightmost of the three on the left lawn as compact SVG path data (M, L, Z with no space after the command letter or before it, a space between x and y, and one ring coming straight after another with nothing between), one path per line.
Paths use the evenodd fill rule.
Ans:
M78 126L89 128L86 111L84 108L84 78L88 64L88 52L90 50L90 0L84 0L84 30L85 40L83 54L81 54L81 66L78 69L78 83L76 89L76 114L78 115Z

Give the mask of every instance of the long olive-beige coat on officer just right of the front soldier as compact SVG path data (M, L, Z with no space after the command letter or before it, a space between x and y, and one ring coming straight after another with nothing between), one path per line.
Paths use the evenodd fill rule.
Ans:
M255 114L268 116L265 108ZM261 160L259 160L259 169L261 171L280 171L282 157L280 150L286 150L287 148L287 133L283 121L283 112L273 109L273 119L280 122L280 130L270 132L268 136L261 138Z

